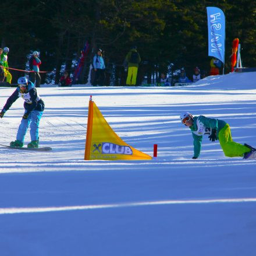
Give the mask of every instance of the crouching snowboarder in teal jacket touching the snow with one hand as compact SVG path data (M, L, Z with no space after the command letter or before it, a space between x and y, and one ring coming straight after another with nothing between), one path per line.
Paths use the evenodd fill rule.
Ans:
M223 120L193 116L189 112L180 115L183 125L190 128L194 138L194 155L197 159L201 151L203 135L208 135L210 141L219 140L226 157L243 157L244 159L256 158L256 149L248 144L239 144L232 140L229 124Z

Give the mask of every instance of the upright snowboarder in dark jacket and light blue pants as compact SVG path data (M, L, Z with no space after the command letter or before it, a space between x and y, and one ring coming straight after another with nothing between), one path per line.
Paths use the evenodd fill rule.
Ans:
M24 99L25 112L22 117L19 129L17 131L16 140L10 143L10 147L23 147L24 138L27 133L27 129L30 126L30 137L31 142L27 144L28 148L38 148L38 130L39 122L44 111L44 101L37 94L37 89L34 84L27 80L26 77L20 77L17 81L18 87L12 95L7 99L5 106L3 106L0 112L0 118L5 115L6 111L12 106L13 102L17 98L21 97Z

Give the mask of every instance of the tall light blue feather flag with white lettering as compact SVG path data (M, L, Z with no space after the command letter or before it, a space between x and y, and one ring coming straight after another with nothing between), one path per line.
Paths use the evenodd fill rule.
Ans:
M225 62L225 15L221 9L207 7L208 56Z

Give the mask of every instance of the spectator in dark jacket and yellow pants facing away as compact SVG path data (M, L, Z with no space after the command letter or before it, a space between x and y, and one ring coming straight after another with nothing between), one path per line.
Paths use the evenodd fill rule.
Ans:
M135 86L138 72L138 64L141 62L140 54L137 52L137 47L130 49L125 58L128 63L128 74L126 79L127 86Z

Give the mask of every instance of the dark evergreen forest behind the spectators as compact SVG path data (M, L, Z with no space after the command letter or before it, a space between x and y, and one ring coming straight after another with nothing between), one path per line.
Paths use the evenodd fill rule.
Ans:
M209 72L207 6L226 17L225 73L230 72L232 41L239 38L243 66L256 66L256 5L240 0L8 0L1 2L0 46L9 47L9 67L27 70L33 51L40 52L42 83L58 83L71 74L81 49L90 51L79 83L87 82L95 52L104 52L106 73L114 86L125 84L123 61L136 45L141 56L138 84L152 74L195 66ZM24 72L10 71L15 82ZM149 81L150 82L150 81Z

